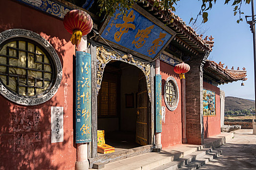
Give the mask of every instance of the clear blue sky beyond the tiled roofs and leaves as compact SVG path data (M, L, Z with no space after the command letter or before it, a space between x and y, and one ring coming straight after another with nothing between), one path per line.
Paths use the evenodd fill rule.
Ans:
M202 0L180 0L177 3L175 14L186 22L190 22L190 18L195 18L201 9ZM232 1L232 0L231 0ZM213 51L209 58L216 63L225 64L224 68L228 66L229 69L234 66L234 69L243 67L247 70L247 81L237 81L225 85L219 85L221 90L225 91L225 96L234 96L244 99L255 99L254 92L254 56L253 56L253 34L250 31L249 24L246 23L245 16L252 15L251 4L243 4L241 11L243 21L239 24L236 20L239 18L238 14L234 16L233 9L230 2L224 5L224 0L217 0L213 4L213 8L208 11L208 21L202 24L202 30L207 30L204 37L212 35L214 37ZM256 11L256 9L255 9ZM198 23L202 21L202 17L198 17Z

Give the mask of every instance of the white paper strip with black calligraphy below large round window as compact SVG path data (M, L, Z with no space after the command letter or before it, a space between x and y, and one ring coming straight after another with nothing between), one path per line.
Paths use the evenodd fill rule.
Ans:
M51 106L51 143L63 142L63 107Z

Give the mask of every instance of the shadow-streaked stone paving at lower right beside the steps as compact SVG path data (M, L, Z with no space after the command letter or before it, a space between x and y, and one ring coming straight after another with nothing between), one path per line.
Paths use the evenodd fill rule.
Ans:
M234 131L234 138L215 150L222 155L198 170L256 170L256 135L252 129Z

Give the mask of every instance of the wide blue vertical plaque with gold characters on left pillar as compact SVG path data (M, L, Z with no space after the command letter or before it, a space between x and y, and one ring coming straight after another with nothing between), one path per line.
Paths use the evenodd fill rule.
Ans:
M76 51L76 143L91 142L91 55Z

